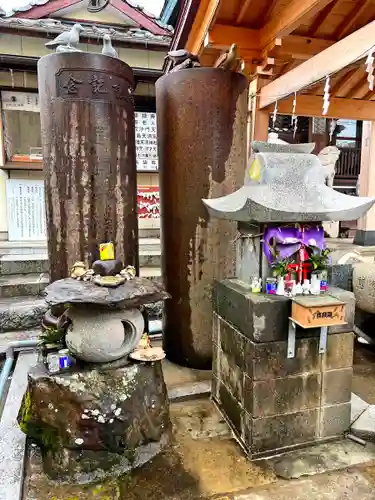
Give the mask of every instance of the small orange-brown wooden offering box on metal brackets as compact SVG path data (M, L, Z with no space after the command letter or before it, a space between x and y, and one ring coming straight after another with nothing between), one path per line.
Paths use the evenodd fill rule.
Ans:
M308 295L292 300L291 319L303 328L343 325L345 302L331 295Z

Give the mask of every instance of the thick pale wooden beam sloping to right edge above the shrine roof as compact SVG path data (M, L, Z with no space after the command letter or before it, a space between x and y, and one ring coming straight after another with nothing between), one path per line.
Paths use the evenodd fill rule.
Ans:
M303 62L261 90L260 107L308 87L364 57L374 45L375 21Z

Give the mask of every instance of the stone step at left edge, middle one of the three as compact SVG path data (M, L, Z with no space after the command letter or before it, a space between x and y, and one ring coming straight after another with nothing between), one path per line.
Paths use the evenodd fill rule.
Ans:
M0 276L0 299L38 296L48 282L48 275L45 273Z

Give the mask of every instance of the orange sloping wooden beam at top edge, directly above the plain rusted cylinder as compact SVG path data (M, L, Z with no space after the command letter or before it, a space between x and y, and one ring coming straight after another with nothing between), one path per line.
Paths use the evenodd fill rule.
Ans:
M204 39L219 10L221 0L201 0L185 48L193 54L202 50Z

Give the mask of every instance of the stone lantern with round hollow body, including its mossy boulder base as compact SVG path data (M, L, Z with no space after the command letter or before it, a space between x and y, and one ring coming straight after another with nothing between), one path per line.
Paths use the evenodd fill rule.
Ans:
M65 340L77 364L57 373L43 362L32 368L18 417L42 450L45 472L60 481L118 476L150 460L170 437L160 358L129 359L144 333L140 308L168 294L131 269L95 276L101 266L75 269L46 288L51 307L66 307Z

